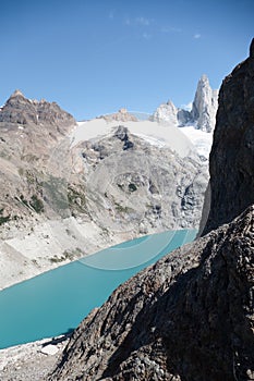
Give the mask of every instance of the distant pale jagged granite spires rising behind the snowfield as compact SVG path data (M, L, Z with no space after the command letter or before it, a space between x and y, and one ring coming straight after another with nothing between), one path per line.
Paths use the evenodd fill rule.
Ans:
M211 89L207 76L203 75L198 81L191 111L178 109L172 101L168 101L156 109L153 120L180 127L194 125L196 130L211 133L215 127L217 108L218 91Z

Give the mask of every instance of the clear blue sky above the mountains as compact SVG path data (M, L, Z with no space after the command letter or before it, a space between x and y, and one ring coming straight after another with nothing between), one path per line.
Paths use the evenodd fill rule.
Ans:
M77 120L193 100L249 54L254 0L0 0L0 103L14 89Z

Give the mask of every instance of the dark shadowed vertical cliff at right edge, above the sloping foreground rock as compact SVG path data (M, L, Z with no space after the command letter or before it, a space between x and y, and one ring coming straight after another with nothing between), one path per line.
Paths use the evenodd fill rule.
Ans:
M222 83L209 158L211 199L203 235L254 202L254 40ZM208 206L206 206L207 208Z

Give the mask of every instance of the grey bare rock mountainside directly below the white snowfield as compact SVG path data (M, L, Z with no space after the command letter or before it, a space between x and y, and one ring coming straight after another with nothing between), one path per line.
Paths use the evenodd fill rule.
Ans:
M185 160L124 125L75 150L82 158L75 168L85 173L87 213L104 230L134 236L198 224L207 174L197 156Z

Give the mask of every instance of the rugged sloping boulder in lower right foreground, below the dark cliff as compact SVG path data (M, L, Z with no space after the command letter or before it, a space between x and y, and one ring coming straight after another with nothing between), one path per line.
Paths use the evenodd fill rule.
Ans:
M252 380L254 207L120 286L49 380Z

